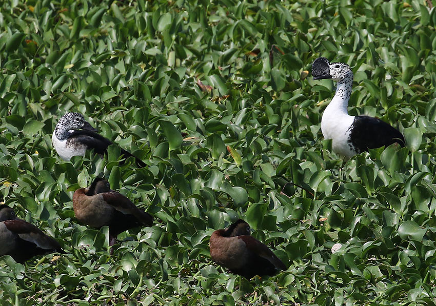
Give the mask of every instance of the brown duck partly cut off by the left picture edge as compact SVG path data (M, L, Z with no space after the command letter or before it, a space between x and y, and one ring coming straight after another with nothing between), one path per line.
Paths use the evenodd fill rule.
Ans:
M34 225L18 219L12 208L0 206L0 256L10 255L16 262L53 252L63 253L60 244Z

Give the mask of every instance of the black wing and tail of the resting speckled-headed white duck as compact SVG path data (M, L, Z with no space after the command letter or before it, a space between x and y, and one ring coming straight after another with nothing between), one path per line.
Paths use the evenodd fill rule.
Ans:
M98 154L107 153L108 147L113 144L112 141L103 137L102 135L88 130L74 130L68 136L67 143L70 141L74 141L77 144L83 144L88 149L94 149L94 151L97 152ZM144 168L147 166L144 161L137 158L130 152L124 150L123 148L120 149L121 149L121 154L124 155L126 158L133 156L135 158L136 165L138 167Z

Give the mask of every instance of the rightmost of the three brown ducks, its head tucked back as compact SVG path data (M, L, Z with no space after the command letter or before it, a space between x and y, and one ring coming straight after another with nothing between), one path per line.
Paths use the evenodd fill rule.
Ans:
M224 230L214 231L210 236L212 260L248 279L286 270L285 264L250 232L248 223L241 219Z

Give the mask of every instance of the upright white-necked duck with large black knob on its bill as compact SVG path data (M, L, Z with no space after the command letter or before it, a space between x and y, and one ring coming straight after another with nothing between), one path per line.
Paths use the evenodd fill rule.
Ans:
M350 66L330 63L327 58L319 57L312 64L312 76L313 79L331 78L338 82L336 93L321 119L321 130L326 139L332 139L334 152L351 157L395 142L405 146L403 134L384 121L369 116L348 115L348 100L353 85Z

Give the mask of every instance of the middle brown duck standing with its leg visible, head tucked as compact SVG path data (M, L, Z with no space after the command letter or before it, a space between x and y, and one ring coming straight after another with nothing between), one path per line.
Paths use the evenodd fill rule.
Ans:
M74 192L73 208L79 222L93 228L109 227L109 246L115 244L118 234L153 224L152 216L121 193L111 190L109 182L100 177L95 178L89 188Z

